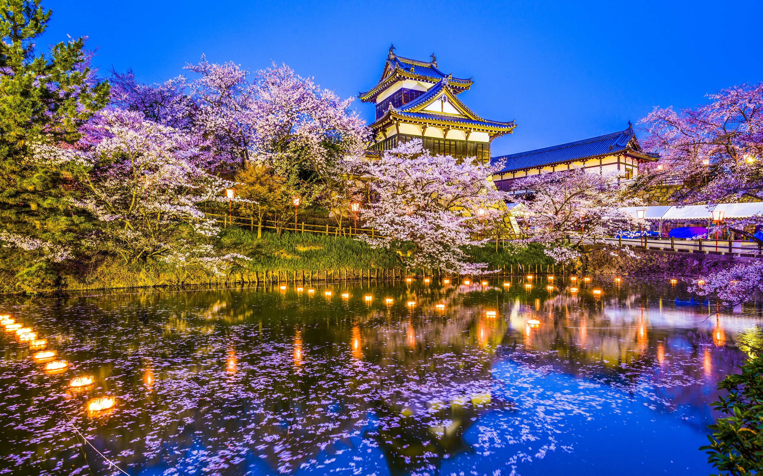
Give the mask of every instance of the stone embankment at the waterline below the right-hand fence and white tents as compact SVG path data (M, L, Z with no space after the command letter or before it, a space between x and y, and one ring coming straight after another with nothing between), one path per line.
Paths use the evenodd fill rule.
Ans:
M750 264L763 258L716 254L715 252L678 252L659 249L634 251L639 259L619 253L594 250L584 260L589 273L615 273L622 275L697 276L728 269L737 264Z

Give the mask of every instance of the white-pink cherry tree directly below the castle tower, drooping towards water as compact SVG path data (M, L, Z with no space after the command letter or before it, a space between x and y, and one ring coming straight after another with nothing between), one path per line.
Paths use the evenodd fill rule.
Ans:
M432 156L418 139L385 150L365 174L378 200L361 212L381 236L359 240L394 250L411 267L485 272L487 264L467 262L463 247L483 243L476 239L478 208L505 208L505 192L488 182L491 173L474 158Z

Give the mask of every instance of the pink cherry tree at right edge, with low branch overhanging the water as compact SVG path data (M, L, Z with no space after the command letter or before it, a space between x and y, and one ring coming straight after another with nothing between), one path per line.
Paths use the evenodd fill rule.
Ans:
M707 203L709 207L763 199L763 82L726 88L708 98L705 105L678 112L655 108L640 121L647 132L642 145L662 156L645 171L651 173L642 176L642 185L665 178L703 183L684 203ZM763 224L763 217L726 220L723 226L756 224ZM690 290L714 294L735 305L761 291L761 281L760 265L735 265L698 277Z

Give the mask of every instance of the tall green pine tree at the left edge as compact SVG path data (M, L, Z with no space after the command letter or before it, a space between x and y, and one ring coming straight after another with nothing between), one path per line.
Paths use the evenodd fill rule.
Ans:
M76 143L79 127L108 103L109 85L89 68L85 38L35 50L51 13L40 0L0 0L0 232L63 243L78 221L66 201L76 178L37 164L31 145ZM28 274L12 268L0 267L6 276Z

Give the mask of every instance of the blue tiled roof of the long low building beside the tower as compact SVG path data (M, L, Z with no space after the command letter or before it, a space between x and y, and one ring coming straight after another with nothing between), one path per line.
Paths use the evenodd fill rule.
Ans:
M652 154L642 153L638 148L630 148L628 144L634 137L636 136L633 133L633 127L628 127L626 130L608 133L604 136L591 137L590 139L559 144L558 146L546 147L544 149L528 150L527 152L507 156L493 157L491 165L501 167L501 171L497 173L506 173L513 170L535 169L536 167L550 166L562 162L577 161L588 157L613 156L626 151L654 159L657 158L657 156L652 156ZM636 145L636 147L638 146Z

